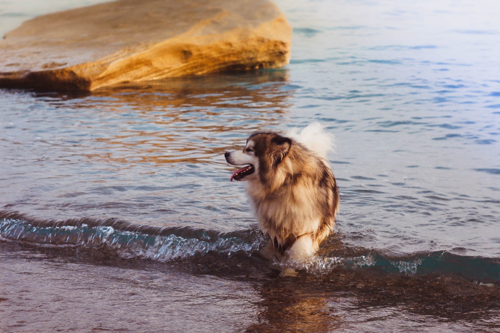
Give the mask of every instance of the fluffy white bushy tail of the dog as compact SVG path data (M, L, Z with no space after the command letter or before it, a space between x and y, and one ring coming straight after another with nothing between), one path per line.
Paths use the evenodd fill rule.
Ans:
M289 130L286 135L302 143L325 159L328 151L333 150L335 147L333 134L325 132L324 126L319 122L310 123L306 127L303 127L300 132L299 128L295 127Z

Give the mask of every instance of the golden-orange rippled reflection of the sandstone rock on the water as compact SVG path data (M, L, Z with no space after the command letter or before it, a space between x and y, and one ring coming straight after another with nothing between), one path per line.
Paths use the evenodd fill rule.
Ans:
M88 160L123 163L208 162L227 137L278 126L293 95L286 70L203 75L99 89L56 107L93 110ZM230 142L234 144L236 142ZM219 163L217 160L216 163Z

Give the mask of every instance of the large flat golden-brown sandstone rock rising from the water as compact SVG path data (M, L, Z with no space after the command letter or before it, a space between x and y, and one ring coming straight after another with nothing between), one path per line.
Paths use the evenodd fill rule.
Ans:
M0 85L93 90L280 67L291 27L267 0L119 0L28 20L0 41Z

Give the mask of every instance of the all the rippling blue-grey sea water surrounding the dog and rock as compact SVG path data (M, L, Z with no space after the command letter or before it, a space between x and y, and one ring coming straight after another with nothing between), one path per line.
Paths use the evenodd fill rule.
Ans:
M283 69L0 90L3 331L500 329L498 5L277 3ZM278 276L223 152L314 120L340 216Z

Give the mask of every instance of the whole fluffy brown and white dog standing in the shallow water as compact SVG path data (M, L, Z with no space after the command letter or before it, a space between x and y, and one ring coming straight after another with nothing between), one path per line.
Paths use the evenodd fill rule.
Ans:
M242 150L225 152L229 164L246 165L230 180L245 182L258 226L269 236L267 253L303 262L332 232L339 208L326 160L332 140L319 123L312 123L300 133L256 131Z

